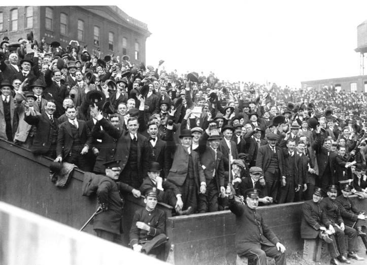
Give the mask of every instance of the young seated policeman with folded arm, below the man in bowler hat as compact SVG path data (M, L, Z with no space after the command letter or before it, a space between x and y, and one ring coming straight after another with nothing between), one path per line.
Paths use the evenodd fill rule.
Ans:
M156 255L163 259L165 231L165 213L157 209L157 192L153 188L145 193L145 208L138 209L130 229L130 246L134 251Z

